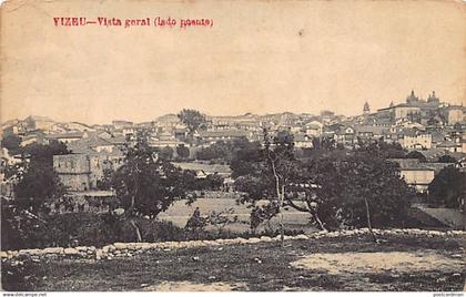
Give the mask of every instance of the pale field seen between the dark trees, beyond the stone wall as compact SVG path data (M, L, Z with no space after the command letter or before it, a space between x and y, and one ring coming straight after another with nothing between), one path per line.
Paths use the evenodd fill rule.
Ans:
M234 213L232 215L237 216L239 223L230 225L227 228L239 233L246 232L250 228L251 209L247 208L246 205L237 205L235 199L227 198L199 198L192 205L186 205L185 201L178 201L158 217L172 222L176 226L184 227L195 207L200 208L202 216L209 215L212 211L219 213L233 208ZM292 208L284 212L285 227L288 229L315 231L315 228L308 224L308 221L310 215L306 213L297 212ZM276 228L277 218L273 218L270 226ZM262 226L262 229L265 227L266 226ZM259 231L261 231L261 228Z

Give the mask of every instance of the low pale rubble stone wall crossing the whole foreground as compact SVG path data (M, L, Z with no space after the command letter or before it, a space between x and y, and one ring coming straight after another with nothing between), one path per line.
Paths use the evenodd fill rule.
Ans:
M463 231L424 231L424 229L374 229L376 235L415 235L427 237L446 237L446 236L465 236ZM285 240L307 240L314 238L330 238L340 236L356 236L368 234L367 228L353 231L337 231L337 232L317 232L311 235L285 236ZM88 258L88 259L112 259L115 257L132 257L141 254L148 249L178 249L192 247L206 247L220 245L242 245L242 244L257 244L267 242L280 242L280 236L269 237L253 237L253 238L233 238L233 239L215 239L215 240L186 240L186 242L162 242L162 243L114 243L95 248L94 246L78 246L78 247L49 247L43 249L20 249L0 252L2 259L13 259L21 257L31 257L34 262L40 262L44 258Z

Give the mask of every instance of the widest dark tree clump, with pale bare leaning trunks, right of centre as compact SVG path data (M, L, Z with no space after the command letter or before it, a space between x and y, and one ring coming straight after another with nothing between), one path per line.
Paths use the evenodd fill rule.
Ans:
M254 206L259 199L270 199L266 207L253 208L252 225L280 214L283 207L311 214L321 229L366 225L372 232L374 224L402 222L413 191L379 146L344 155L332 153L304 163L294 158L290 141L273 146L265 141L264 146L263 158L240 167L241 174L233 171L239 176L236 190L245 193L242 202Z

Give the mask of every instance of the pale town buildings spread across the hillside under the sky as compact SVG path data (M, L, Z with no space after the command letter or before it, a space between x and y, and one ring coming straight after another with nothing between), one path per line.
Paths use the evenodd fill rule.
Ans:
M23 120L2 123L3 143L10 137L19 140L19 146L47 145L60 142L69 154L53 156L53 168L64 186L75 195L110 195L98 192L105 170L116 170L123 162L121 150L134 140L136 131L149 132L149 144L169 154L183 167L194 167L197 176L221 173L225 183L231 183L230 168L223 164L212 165L200 158L202 148L217 142L246 139L263 140L263 129L272 132L288 131L297 148L312 148L316 140L332 140L338 147L354 148L362 142L383 140L399 144L407 152L417 152L424 160L401 158L402 175L419 193L425 193L434 176L444 167L466 166L466 107L443 102L433 91L426 100L412 91L404 102L371 110L369 101L357 116L337 115L322 111L318 115L302 113L244 114L237 116L206 115L205 124L190 131L176 114L166 114L152 122L133 123L115 120L111 124L85 124L55 122L45 116L31 115ZM189 134L192 132L191 139ZM180 147L184 150L180 150ZM180 152L186 152L180 156ZM200 153L201 152L201 153ZM439 161L448 156L449 162ZM2 145L1 162L13 165L21 156ZM212 157L214 158L214 157ZM205 158L204 158L205 160ZM222 163L222 162L220 162ZM12 194L14 176L6 178L2 173L2 195ZM88 195L87 194L87 195Z

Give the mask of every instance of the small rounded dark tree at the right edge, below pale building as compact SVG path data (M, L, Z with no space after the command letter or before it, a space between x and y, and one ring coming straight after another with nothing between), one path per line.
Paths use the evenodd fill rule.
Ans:
M443 168L428 185L432 202L449 208L459 208L466 191L466 173L454 166Z

